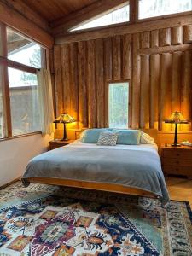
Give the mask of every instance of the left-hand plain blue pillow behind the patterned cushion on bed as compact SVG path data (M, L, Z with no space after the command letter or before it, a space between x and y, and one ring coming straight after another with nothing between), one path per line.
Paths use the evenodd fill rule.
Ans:
M82 143L97 143L100 132L101 131L112 131L113 129L110 128L95 128L95 129L88 129L84 131L84 137L82 138Z

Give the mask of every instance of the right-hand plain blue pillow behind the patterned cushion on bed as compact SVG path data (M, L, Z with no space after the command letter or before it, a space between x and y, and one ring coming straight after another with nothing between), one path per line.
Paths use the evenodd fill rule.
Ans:
M140 138L142 132L140 130L115 130L113 131L119 132L117 144L123 145L138 145L140 143Z

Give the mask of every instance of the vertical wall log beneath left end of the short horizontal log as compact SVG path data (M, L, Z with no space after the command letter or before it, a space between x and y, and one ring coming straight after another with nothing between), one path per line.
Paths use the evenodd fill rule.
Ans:
M140 127L148 128L149 122L149 55L141 57Z

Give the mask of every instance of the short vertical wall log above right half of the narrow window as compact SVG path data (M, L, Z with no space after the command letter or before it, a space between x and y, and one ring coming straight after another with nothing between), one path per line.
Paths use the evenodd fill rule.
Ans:
M122 36L122 76L121 79L131 79L131 41L130 34Z

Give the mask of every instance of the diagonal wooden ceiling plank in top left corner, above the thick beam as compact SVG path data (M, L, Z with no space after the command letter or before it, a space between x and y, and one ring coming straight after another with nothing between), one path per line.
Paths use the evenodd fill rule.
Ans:
M24 15L28 20L32 20L32 22L43 28L46 32L50 32L50 26L48 21L44 20L41 15L38 15L37 12L33 11L22 0L1 0L1 2L5 3L10 8L15 9L20 13L20 15Z

